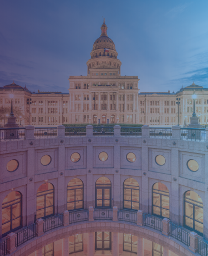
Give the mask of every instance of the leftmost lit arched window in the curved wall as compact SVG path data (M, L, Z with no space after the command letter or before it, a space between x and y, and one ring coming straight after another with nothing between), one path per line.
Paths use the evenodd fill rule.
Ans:
M2 236L22 227L22 195L12 191L2 203Z

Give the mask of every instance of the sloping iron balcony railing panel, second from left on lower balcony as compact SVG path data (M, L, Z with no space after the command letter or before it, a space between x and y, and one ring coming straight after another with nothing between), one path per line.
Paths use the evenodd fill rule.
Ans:
M16 247L19 245L27 242L28 240L36 237L36 223L23 228L21 231L17 232L17 237L16 237Z

